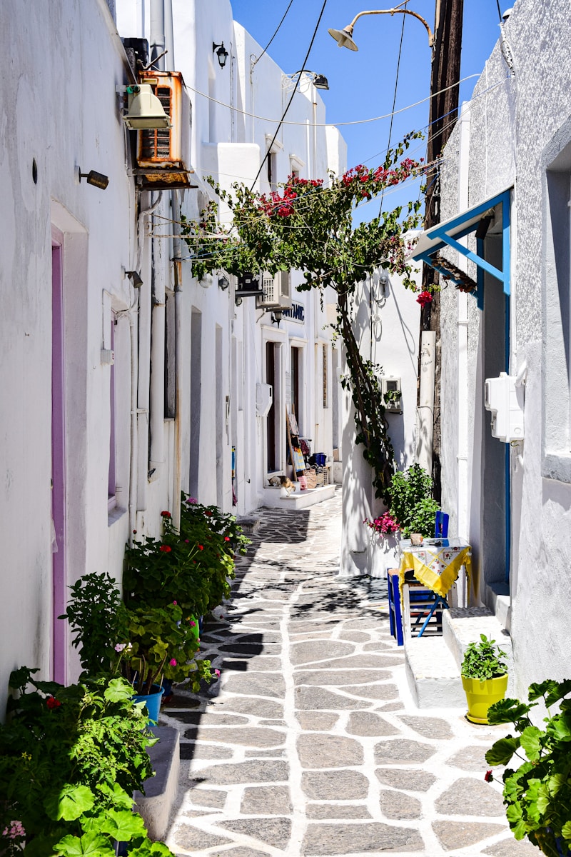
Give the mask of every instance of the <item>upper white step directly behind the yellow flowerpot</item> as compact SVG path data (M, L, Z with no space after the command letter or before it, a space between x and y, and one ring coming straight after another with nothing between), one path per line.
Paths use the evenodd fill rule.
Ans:
M460 673L464 652L469 643L478 643L480 634L496 641L508 663L508 696L514 696L514 652L509 632L487 607L453 607L442 617L443 639L454 657Z

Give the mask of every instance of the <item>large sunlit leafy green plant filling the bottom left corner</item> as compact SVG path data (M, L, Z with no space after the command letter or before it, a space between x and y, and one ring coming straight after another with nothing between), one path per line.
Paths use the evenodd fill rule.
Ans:
M36 672L12 673L19 697L9 698L0 726L0 853L111 857L118 840L167 857L164 846L152 852L133 813L133 791L152 776L146 747L156 739L131 686L99 677L64 687L34 680Z

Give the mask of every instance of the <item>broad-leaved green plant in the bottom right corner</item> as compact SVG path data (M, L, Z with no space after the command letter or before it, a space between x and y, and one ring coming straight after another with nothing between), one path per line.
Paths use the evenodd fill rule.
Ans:
M489 722L513 723L509 734L491 746L486 761L519 767L503 771L503 802L516 839L524 836L550 857L571 855L571 680L545 680L529 686L528 703L504 699L491 706ZM529 713L538 700L547 709L544 728ZM559 710L552 711L559 704ZM485 777L493 779L491 771Z

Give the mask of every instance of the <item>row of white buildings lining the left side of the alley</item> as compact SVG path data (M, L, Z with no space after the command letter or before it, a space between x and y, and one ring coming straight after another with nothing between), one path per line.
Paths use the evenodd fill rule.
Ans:
M253 181L292 84L267 55L252 68L261 48L225 0L172 5L174 26L168 2L121 0L117 21L104 0L3 4L0 711L9 672L22 664L74 679L57 620L68 585L86 572L120 580L132 530L156 534L163 509L176 519L181 488L226 511L259 506L268 473L286 466L288 399L314 451L331 456L341 440L327 305L322 313L312 293L294 293L297 307L277 327L253 298L236 305L235 283L199 285L178 261L187 257L179 206L198 215L202 175ZM184 111L173 114L181 157L175 136L167 153L181 181L196 185L183 194L166 182L159 195L157 171L141 172L116 92L137 82L135 55L117 26L158 45L164 33L166 68L187 83L190 160ZM225 68L212 50L222 42ZM262 191L292 171L325 177L345 167L311 76L300 89L288 119L301 124L277 135ZM184 106L181 91L172 98ZM195 172L184 172L191 162ZM104 177L86 180L90 171L108 177L106 189ZM256 413L256 385L268 382L273 422Z

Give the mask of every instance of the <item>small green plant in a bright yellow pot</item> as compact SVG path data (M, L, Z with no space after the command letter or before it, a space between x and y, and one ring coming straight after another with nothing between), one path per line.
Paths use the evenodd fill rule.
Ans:
M506 653L496 641L480 634L479 643L470 643L461 665L462 686L466 692L467 719L487 723L488 709L505 696L508 689Z

